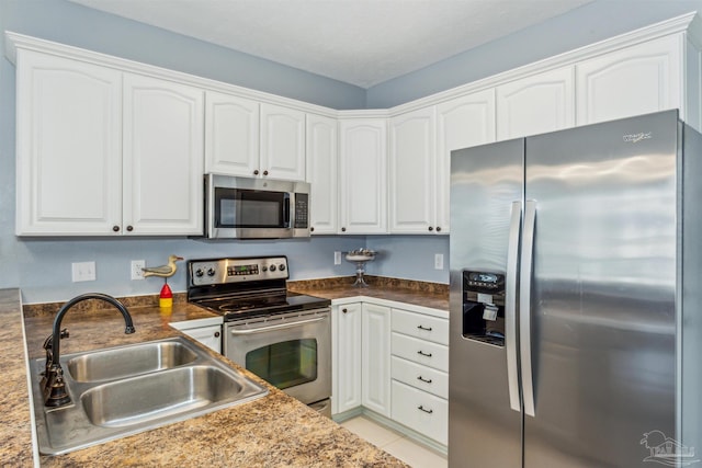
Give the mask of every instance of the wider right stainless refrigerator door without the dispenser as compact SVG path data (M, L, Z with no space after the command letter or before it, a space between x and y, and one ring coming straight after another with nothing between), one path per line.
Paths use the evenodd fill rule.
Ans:
M525 468L649 466L645 434L676 436L677 128L667 112L526 139Z

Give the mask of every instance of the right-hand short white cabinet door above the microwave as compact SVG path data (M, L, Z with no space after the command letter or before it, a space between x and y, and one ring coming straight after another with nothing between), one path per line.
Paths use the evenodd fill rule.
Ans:
M305 180L305 113L261 104L260 175Z

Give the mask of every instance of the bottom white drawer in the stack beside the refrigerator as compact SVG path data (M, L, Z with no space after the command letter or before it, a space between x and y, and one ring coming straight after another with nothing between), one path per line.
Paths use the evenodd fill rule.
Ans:
M393 380L392 418L441 444L449 443L449 402Z

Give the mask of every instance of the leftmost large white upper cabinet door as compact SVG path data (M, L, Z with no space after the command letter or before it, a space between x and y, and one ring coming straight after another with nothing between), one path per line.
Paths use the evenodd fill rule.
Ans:
M109 235L122 222L122 73L21 49L18 236Z

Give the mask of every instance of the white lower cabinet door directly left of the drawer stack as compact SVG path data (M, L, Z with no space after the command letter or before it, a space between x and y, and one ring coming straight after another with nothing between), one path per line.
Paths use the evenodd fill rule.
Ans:
M390 415L390 309L363 304L362 327L363 406Z

